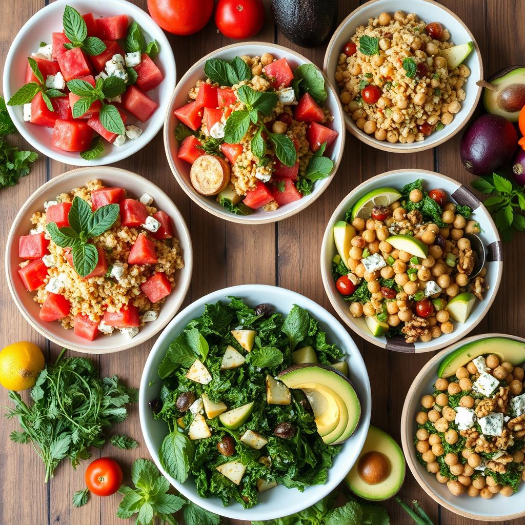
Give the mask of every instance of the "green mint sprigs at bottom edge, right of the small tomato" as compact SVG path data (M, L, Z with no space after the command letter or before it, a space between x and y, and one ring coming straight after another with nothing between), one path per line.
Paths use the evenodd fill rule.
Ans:
M170 482L161 475L153 461L137 459L131 467L134 488L123 485L119 492L124 495L117 516L128 519L138 514L136 525L169 523L177 525L174 512L182 509L186 525L218 525L220 516L197 507L195 503L180 496L167 493Z

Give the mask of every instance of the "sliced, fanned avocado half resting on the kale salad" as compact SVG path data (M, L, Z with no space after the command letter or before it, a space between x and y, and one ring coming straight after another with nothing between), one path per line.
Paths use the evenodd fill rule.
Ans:
M343 443L355 432L361 403L348 377L333 366L293 365L279 374L279 380L288 388L301 388L304 392L324 443Z

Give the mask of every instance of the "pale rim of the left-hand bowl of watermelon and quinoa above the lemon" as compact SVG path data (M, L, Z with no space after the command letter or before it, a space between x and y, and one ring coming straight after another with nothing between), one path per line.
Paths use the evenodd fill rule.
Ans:
M95 169L98 173L100 173L100 178L102 180L104 178L104 173L107 173L107 172L111 171L113 173L117 172L117 173L120 173L122 175L123 181L124 181L123 185L125 185L125 180L127 178L133 178L133 179L138 180L140 182L144 181L144 182L146 182L148 184L151 184L151 185L155 186L157 192L159 194L161 194L163 198L167 199L167 201L169 201L172 204L172 209L170 211L170 216L171 216L171 214L173 214L172 219L173 219L173 222L175 224L176 230L177 230L177 232L182 232L182 234L186 238L187 244L188 244L188 247L187 247L188 249L185 250L185 253L184 253L184 265L185 265L185 267L187 267L186 271L187 271L188 277L186 279L186 282L182 283L183 284L183 289L182 289L181 296L177 300L177 302L174 304L174 306L172 307L172 313L170 314L170 316L168 316L167 319L163 323L158 323L158 326L156 326L152 330L151 333L149 333L149 334L147 334L145 336L143 335L142 337L141 337L141 335L139 333L139 335L137 335L133 339L131 339L130 342L122 344L120 346L114 346L113 348L108 349L108 350L93 349L93 348L90 348L87 345L86 346L82 346L82 345L71 344L66 339L57 338L53 334L51 334L48 331L46 331L43 328L44 325L41 325L36 319L34 319L33 316L31 316L29 314L29 312L26 311L26 309L24 308L22 302L18 301L17 295L16 295L16 291L15 291L15 287L14 287L14 283L13 283L13 280L12 280L11 271L10 271L12 266L11 266L10 260L9 260L9 249L14 246L13 245L13 241L14 241L14 236L15 236L16 225L20 222L20 220L22 220L23 215L26 213L26 208L28 207L28 204L30 202L33 202L33 201L39 199L40 195L42 193L45 193L50 187L53 187L57 183L65 182L71 175L77 175L77 174L83 173L83 172L92 172L93 169ZM180 240L181 237L182 237L181 233L178 233L179 240ZM60 175L57 175L56 177L51 178L49 181L47 181L45 184L41 185L37 190L35 190L35 192L33 192L33 194L30 195L30 197L28 199L26 199L26 202L20 207L18 213L16 214L15 219L13 220L13 224L11 225L11 227L9 229L9 233L7 235L6 250L5 250L5 255L4 255L4 266L5 266L5 271L6 271L7 287L9 288L9 292L11 293L12 299L15 302L16 307L18 308L20 313L22 313L22 315L26 319L26 321L37 332L39 332L41 335L43 335L46 339L49 339L50 341L54 342L55 344L58 344L59 346L63 346L64 348L67 348L69 350L74 350L76 352L89 353L89 354L108 354L108 353L121 352L123 350L128 350L128 349L133 348L135 346L139 346L140 344L145 343L146 341L149 341L154 335L159 333L171 321L172 317L178 311L178 309L180 308L180 306L183 303L184 299L186 298L186 294L188 292L188 289L190 288L190 283L191 283L191 280L192 280L192 272L193 272L193 246L192 246L192 240L191 240L191 236L190 236L190 231L188 230L188 227L186 225L186 222L185 222L184 217L182 216L181 212L179 211L177 206L175 206L175 204L173 203L172 199L163 190L161 190L161 188L156 186L153 182L149 181L148 179L146 179L145 177L143 177L143 176L141 176L141 175L139 175L137 173L133 173L133 172L128 171L128 170L123 170L122 168L119 168L119 167L113 167L113 166L78 167L78 168L75 168L74 170L69 170L69 171L67 171L65 173L61 173ZM180 270L177 270L177 271L180 271ZM30 292L30 293L33 293L33 292ZM153 321L153 322L156 322L156 321Z

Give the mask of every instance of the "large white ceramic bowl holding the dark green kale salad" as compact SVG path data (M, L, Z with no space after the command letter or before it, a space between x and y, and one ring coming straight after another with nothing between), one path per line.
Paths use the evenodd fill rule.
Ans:
M350 364L350 379L358 393L361 401L361 421L355 433L343 445L341 452L335 456L332 468L329 470L328 481L325 485L314 485L299 492L297 489L287 489L279 486L262 492L259 495L259 503L251 509L243 509L237 502L232 502L224 507L218 498L201 498L197 495L195 483L188 478L181 484L169 476L162 468L159 461L158 451L166 436L167 426L162 421L153 418L148 402L159 397L162 381L159 379L159 364L164 358L167 348L175 337L181 333L185 325L192 319L200 316L204 311L206 303L217 301L229 302L227 296L240 297L248 304L255 306L261 302L267 302L283 314L287 314L293 304L308 310L312 317L319 321L320 326L327 332L327 341L337 343L346 354L346 360ZM310 507L313 503L331 492L343 480L359 456L361 448L370 426L371 393L370 382L366 367L358 348L344 327L327 310L320 307L299 293L266 285L240 285L217 290L207 296L190 304L167 325L151 349L148 361L144 366L139 394L139 413L142 434L151 457L159 467L162 474L170 483L184 496L191 499L197 505L226 516L240 520L269 520L276 519L288 514L299 512Z

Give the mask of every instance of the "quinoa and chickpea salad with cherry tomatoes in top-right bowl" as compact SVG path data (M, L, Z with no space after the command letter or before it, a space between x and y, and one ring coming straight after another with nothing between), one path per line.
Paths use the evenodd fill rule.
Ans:
M414 13L370 18L339 56L343 109L377 140L423 141L461 109L470 70L460 62L472 48L455 46L439 22L426 24Z

